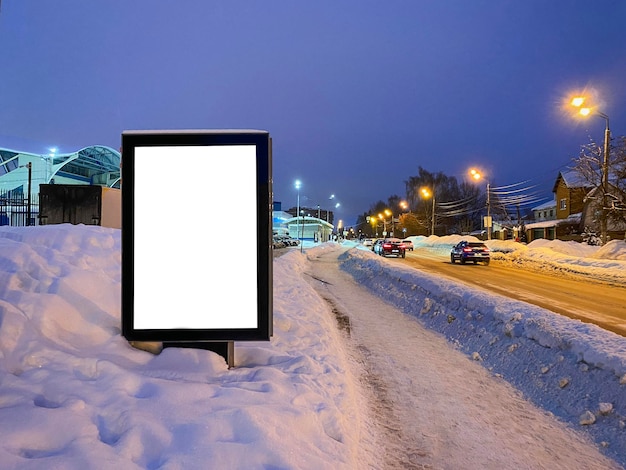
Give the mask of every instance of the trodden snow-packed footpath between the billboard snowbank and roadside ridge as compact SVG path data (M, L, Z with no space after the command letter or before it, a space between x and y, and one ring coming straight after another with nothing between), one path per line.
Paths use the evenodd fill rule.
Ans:
M342 354L350 358L347 380L361 397L354 421L359 468L619 467L443 335L361 286L339 268L341 253L317 252L305 279L328 302L343 335Z

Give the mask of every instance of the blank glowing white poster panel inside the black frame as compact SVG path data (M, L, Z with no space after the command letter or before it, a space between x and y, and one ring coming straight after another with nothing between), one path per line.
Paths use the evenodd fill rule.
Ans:
M134 163L133 327L257 328L256 146L137 147Z

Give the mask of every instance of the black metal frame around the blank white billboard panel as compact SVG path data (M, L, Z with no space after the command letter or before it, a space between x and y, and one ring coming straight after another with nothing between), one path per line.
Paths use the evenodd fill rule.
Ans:
M257 328L135 327L135 149L138 147L232 146L256 148ZM272 336L272 166L269 132L259 130L166 130L122 133L122 335L131 342L163 342L205 349L210 343L269 341ZM236 174L237 163L233 172ZM227 175L215 175L223 180ZM215 184L215 181L212 181ZM208 182L207 182L208 184ZM168 191L171 187L168 187ZM202 212L205 207L198 207ZM155 227L158 230L158 227ZM234 261L236 262L236 261ZM151 267L160 269L158 263ZM165 267L164 269L170 269ZM210 286L208 286L210 288ZM219 295L219 293L216 293ZM226 299L222 299L226 302ZM219 301L217 301L219 302ZM226 310L227 311L227 310ZM172 313L174 314L174 313ZM221 349L221 348L218 348ZM231 348L229 347L228 350ZM229 360L230 364L230 358Z

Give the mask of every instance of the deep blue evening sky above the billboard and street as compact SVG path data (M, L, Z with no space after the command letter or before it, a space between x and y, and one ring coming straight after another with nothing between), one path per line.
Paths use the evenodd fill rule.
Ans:
M604 120L564 111L570 94L594 92L626 134L624 24L621 0L3 0L0 147L264 129L274 199L294 206L300 179L301 204L335 194L347 226L419 166L547 199L603 138Z

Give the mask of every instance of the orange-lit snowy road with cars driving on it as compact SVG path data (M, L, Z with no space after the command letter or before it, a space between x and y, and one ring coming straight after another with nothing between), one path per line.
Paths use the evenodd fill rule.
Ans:
M391 259L391 258L389 258ZM488 266L450 263L450 257L417 249L399 263L528 302L626 337L626 286L585 276L539 272L492 259Z

